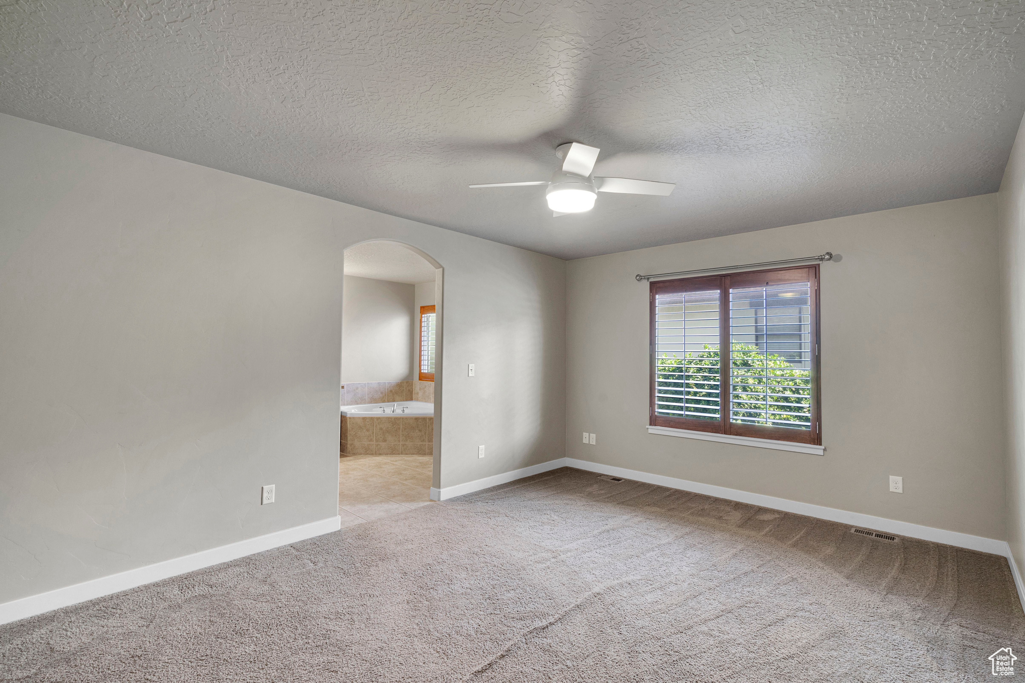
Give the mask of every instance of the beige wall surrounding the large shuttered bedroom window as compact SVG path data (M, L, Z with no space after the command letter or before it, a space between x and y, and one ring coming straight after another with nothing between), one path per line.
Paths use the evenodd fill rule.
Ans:
M821 270L825 455L648 434L633 275L825 251L843 256ZM567 456L1004 538L994 195L580 259L567 278Z

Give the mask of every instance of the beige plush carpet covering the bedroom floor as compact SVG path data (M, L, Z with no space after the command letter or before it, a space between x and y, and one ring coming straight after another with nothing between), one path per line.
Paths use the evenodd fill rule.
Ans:
M1023 626L1000 557L563 469L0 627L0 676L976 681Z

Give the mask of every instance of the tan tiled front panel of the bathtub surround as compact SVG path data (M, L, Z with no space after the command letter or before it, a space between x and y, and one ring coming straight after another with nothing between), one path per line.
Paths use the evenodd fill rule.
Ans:
M434 418L341 418L343 456L433 456Z

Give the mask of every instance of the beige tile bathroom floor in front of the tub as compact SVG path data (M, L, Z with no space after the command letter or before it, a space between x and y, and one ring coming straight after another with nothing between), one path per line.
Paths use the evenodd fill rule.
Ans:
M430 503L432 456L345 456L338 465L342 526Z

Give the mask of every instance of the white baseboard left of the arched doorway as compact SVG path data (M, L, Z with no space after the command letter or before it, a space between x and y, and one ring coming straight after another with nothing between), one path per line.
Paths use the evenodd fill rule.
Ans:
M74 586L58 588L39 595L30 595L27 598L11 600L0 604L0 624L16 622L26 616L41 614L67 607L93 598L99 598L112 593L127 591L136 586L152 584L161 579L176 577L178 574L195 571L204 567L220 564L229 560L238 559L253 553L259 553L272 548L287 546L290 543L312 539L315 536L336 531L341 528L341 518L338 516L328 517L320 521L310 522L300 526L293 526L281 531L258 536L254 539L246 539L227 546L203 550L192 555L175 557L171 560L148 564L135 569L128 569L120 573L109 577L100 577Z

